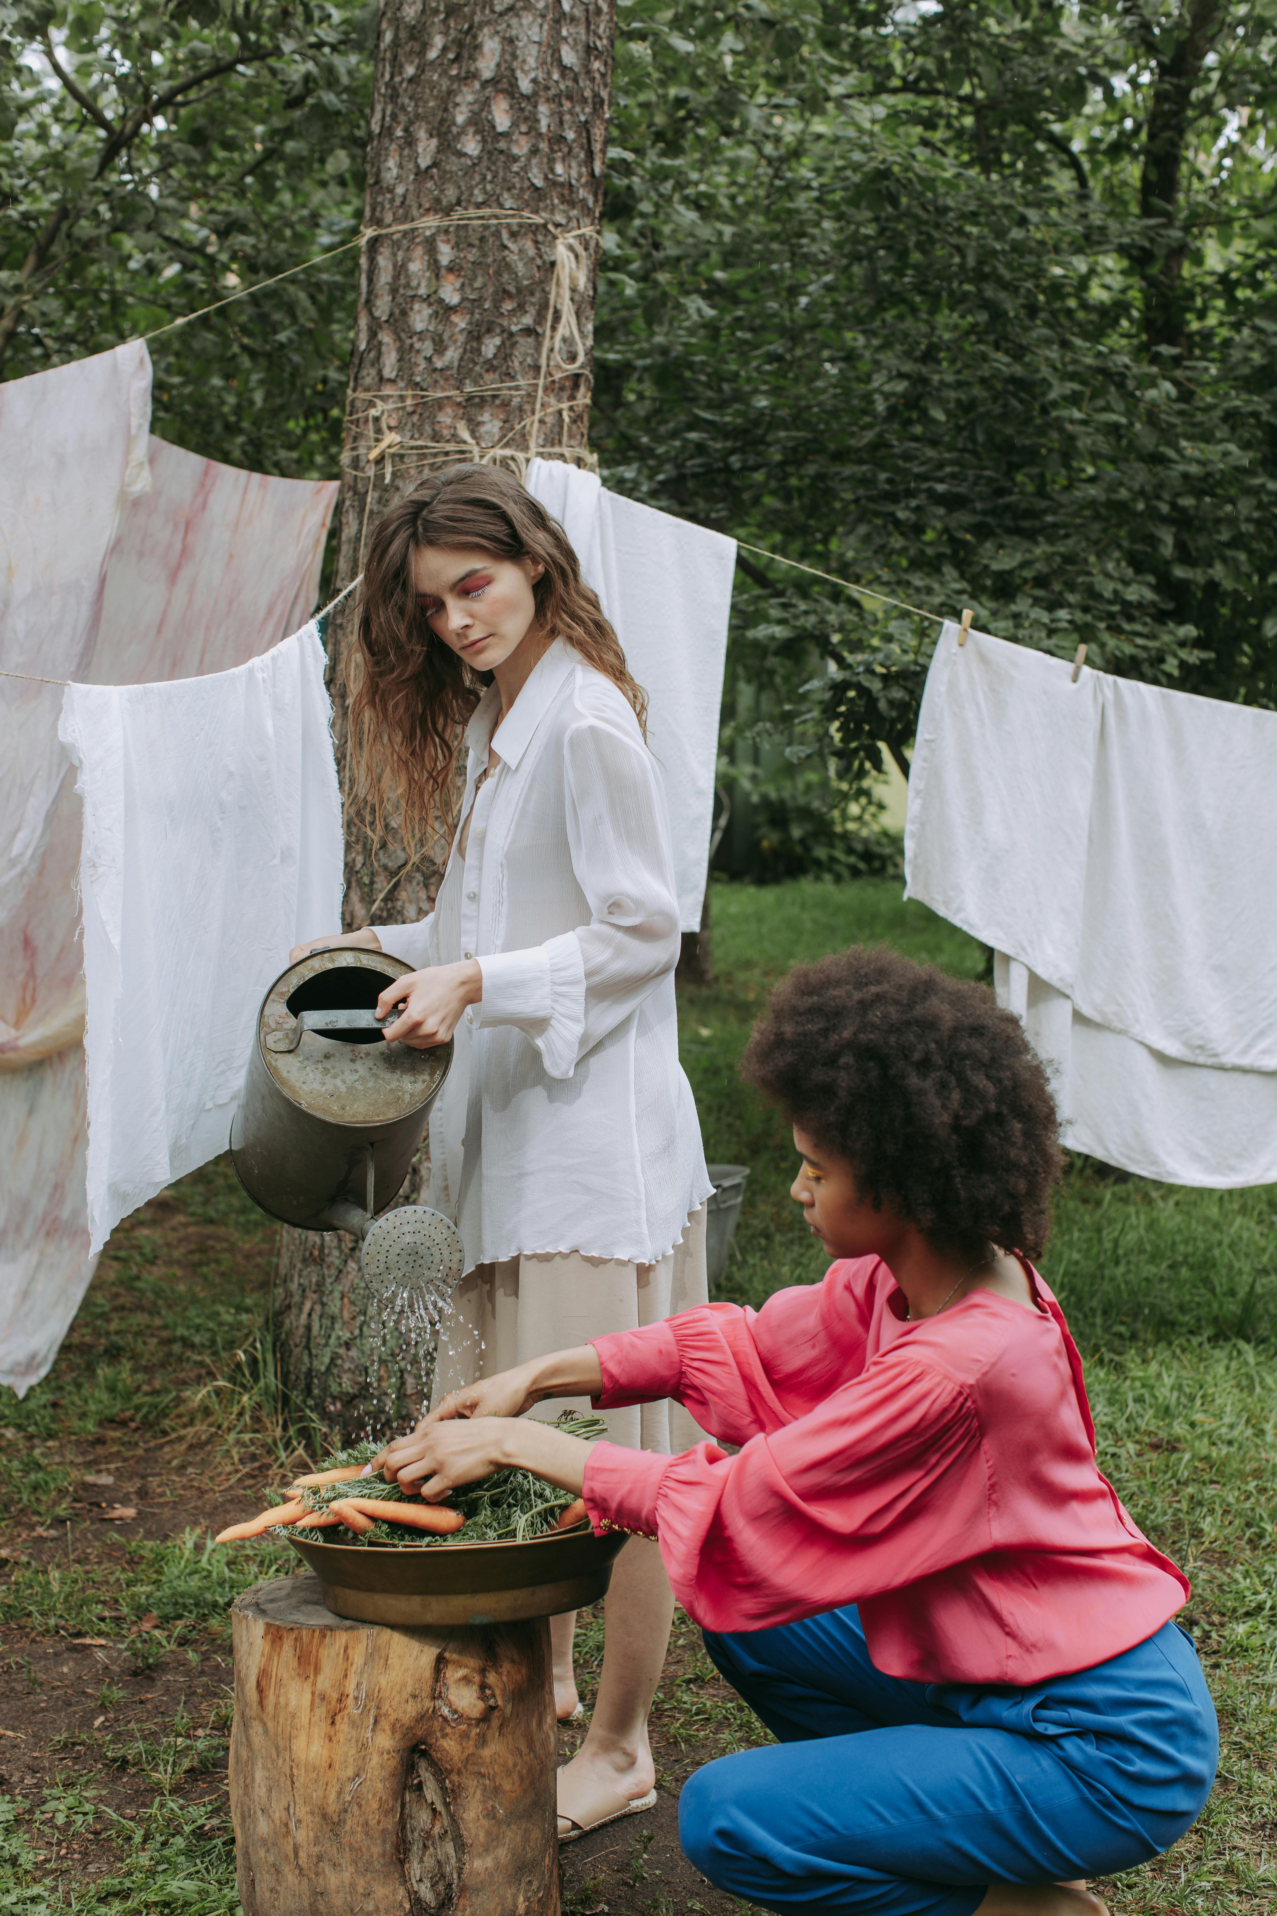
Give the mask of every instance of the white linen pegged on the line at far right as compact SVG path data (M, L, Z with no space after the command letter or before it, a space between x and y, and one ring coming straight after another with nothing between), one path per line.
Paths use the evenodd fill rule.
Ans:
M906 897L996 948L1076 1150L1277 1180L1277 717L946 625Z

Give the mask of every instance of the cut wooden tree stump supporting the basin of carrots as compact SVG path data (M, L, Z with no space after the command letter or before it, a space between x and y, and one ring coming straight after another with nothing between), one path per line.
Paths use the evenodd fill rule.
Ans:
M544 1617L354 1623L306 1575L232 1623L245 1916L559 1916Z

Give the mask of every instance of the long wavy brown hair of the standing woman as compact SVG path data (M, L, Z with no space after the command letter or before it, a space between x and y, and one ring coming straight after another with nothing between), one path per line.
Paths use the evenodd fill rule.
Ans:
M647 697L563 527L511 473L448 466L421 479L377 519L364 567L358 648L347 655L354 803L381 837L394 814L410 858L456 822L456 766L463 726L490 673L475 673L446 646L417 604L414 554L423 546L479 548L498 559L540 559L532 586L544 646L567 640L616 684L647 736ZM525 640L526 644L526 640Z

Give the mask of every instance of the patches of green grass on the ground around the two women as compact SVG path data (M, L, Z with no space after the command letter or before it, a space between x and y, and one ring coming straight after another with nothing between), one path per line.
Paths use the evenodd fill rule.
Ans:
M741 1084L737 1061L766 992L793 962L850 943L888 943L961 977L980 977L984 950L900 883L798 881L768 889L716 885L712 937L718 983L680 992L680 1035L706 1155L745 1163L751 1180L737 1249L720 1295L760 1305L785 1284L816 1282L823 1253L789 1199L793 1142L762 1100ZM247 1203L226 1163L186 1178L126 1220L109 1247L57 1366L23 1404L0 1401L10 1439L4 1493L54 1514L69 1483L65 1450L109 1418L128 1427L190 1431L205 1422L211 1445L235 1441L257 1404L258 1426L278 1416L270 1349L260 1341L272 1226ZM170 1226L178 1226L176 1238ZM1042 1261L1087 1362L1099 1456L1135 1521L1193 1577L1189 1619L1223 1726L1216 1791L1195 1830L1164 1862L1130 1872L1112 1897L1120 1916L1168 1910L1269 1910L1277 1891L1277 1188L1191 1192L1114 1176L1074 1159L1059 1194ZM239 1362L239 1381L218 1424L201 1385ZM213 1401L216 1403L216 1399ZM207 1420L213 1416L213 1422ZM293 1565L287 1546L262 1540L213 1552L190 1531L161 1544L130 1544L123 1563L94 1573L15 1569L0 1586L0 1621L36 1632L124 1634L168 1644L226 1629L226 1608L249 1583ZM597 1619L580 1634L582 1663L597 1663ZM674 1680L668 1705L687 1751L739 1747L760 1732L733 1699L706 1701L699 1665ZM54 1910L132 1912L188 1908L234 1916L234 1859L226 1830L168 1795L184 1768L209 1755L182 1726L168 1740L128 1745L105 1732L105 1753L149 1774L161 1791L138 1824L115 1830L119 1868L90 1887L40 1885L33 1860L48 1853L54 1797L34 1816L0 1801L0 1916ZM57 1795L57 1793L56 1793ZM86 1814L73 1790L63 1818ZM78 1805L78 1807L77 1807ZM92 1805L88 1805L92 1811ZM634 1849L634 1908L661 1908ZM8 1872L8 1874L4 1874ZM582 1903L582 1906L586 1906Z

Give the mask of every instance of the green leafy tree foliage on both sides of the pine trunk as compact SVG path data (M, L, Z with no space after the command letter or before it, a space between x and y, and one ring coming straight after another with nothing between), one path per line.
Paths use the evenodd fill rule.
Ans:
M373 17L0 0L4 374L358 232ZM1277 0L618 0L605 475L890 600L1273 705L1275 52ZM354 282L350 251L159 339L157 429L333 471ZM938 627L743 573L728 743L762 747L800 862L881 745L906 761Z

